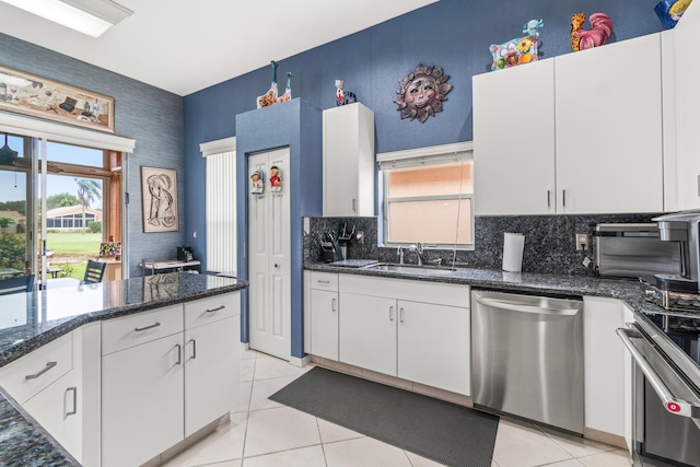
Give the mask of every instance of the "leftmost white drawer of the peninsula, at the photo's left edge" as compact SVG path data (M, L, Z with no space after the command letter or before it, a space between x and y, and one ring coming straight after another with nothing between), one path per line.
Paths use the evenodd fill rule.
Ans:
M0 372L0 385L24 404L73 367L72 334L10 363Z

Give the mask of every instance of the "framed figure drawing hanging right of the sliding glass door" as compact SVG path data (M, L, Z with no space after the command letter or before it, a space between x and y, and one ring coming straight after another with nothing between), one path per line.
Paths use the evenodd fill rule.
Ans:
M143 232L177 232L177 173L141 166Z

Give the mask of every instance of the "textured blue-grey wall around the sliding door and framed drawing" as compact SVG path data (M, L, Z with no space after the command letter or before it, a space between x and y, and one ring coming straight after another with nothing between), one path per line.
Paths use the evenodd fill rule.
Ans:
M128 223L122 225L130 255L130 262L125 267L131 277L138 277L141 276L141 259L175 257L175 248L184 243L185 236L183 98L4 34L0 34L0 63L114 97L115 135L136 140L136 150L129 156L128 171L122 173L121 178L130 195L130 203L125 208ZM177 171L178 232L143 233L140 171L142 165ZM203 185L201 180L203 178L195 178L191 183L195 186ZM199 201L200 206L203 206L203 202L202 198Z

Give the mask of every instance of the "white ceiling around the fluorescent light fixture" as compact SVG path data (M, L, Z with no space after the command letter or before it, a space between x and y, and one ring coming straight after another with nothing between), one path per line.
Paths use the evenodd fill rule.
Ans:
M94 39L0 2L0 32L187 95L438 0L117 0Z

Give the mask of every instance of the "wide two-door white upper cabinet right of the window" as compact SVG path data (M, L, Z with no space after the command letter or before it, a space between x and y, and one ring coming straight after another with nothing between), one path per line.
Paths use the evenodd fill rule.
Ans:
M663 211L660 37L474 77L476 214Z

